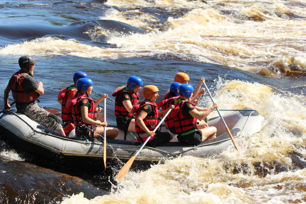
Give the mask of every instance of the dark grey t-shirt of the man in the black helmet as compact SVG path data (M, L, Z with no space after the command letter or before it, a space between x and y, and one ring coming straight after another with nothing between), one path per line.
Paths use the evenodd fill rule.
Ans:
M27 72L20 71L20 73L27 73ZM30 75L27 75L24 77L24 80L21 86L24 89L32 89L33 91L36 91L39 88L37 81L33 78L33 76L30 76ZM29 109L34 103L35 101L16 102L16 109L17 110Z

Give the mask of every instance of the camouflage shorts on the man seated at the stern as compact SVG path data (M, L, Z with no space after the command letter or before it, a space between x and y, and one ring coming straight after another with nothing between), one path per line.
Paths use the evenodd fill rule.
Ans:
M50 117L50 113L45 109L39 107L37 103L31 106L29 109L18 110L18 113L26 115L36 123L43 125L45 128L58 132L62 129L62 125ZM51 113L52 114L52 113Z

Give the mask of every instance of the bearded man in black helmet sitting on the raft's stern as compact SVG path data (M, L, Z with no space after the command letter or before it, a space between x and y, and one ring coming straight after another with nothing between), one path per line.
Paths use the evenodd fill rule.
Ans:
M54 132L65 135L58 117L39 107L36 103L39 95L44 94L43 83L37 82L33 78L34 63L36 61L32 57L25 55L19 58L18 63L21 69L11 77L4 91L4 108L11 108L8 98L9 92L12 91L17 112L26 115Z

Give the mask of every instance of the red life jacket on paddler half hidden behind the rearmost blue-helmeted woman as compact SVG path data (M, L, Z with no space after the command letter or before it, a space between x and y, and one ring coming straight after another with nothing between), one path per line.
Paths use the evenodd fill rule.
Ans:
M69 86L73 87L73 86ZM62 100L62 120L64 123L71 123L73 122L73 117L71 113L71 108L66 108L66 103L67 101L72 98L77 89L76 87L73 87L68 90L69 87L63 88L59 93L58 93L58 100Z

